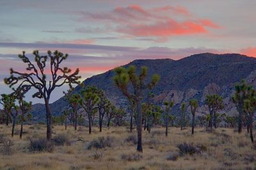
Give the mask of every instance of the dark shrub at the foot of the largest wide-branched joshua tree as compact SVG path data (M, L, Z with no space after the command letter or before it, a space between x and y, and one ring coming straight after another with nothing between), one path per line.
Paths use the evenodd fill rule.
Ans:
M29 151L49 151L54 150L54 144L45 138L29 139Z

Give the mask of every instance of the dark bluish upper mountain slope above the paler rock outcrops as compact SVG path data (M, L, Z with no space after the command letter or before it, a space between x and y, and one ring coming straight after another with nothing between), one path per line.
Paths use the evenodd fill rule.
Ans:
M249 58L240 54L195 54L177 61L172 59L138 59L125 65L148 66L148 74L158 73L161 76L159 84L154 88L156 95L168 93L171 90L186 91L195 89L202 91L209 84L215 83L220 87L225 86L227 94L232 90L235 82L245 79L256 69L256 58ZM94 85L106 91L109 99L118 105L126 104L125 97L114 86L113 70L95 75L84 81L86 86ZM147 80L149 81L149 80ZM78 92L79 87L76 88ZM199 93L199 92L198 92ZM198 98L202 97L198 95ZM67 107L63 98L51 104L53 114L60 114ZM36 117L44 114L33 109Z

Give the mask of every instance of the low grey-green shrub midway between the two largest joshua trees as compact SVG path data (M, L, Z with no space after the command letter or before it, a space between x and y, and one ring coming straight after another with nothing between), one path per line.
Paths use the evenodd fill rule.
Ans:
M91 150L92 148L95 149L102 149L102 148L107 148L107 147L111 147L112 143L114 141L113 137L98 137L98 139L93 139L93 141L91 141L88 144L87 149Z

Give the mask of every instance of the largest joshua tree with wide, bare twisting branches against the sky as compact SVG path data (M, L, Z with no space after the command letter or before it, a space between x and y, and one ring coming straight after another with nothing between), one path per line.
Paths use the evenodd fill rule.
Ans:
M80 76L78 76L79 69L77 68L75 72L71 73L71 69L67 67L61 67L61 63L68 58L68 54L63 54L58 50L53 53L49 50L47 55L41 56L38 50L33 52L35 56L35 63L32 63L28 57L26 57L25 52L19 55L19 58L22 59L24 63L28 66L26 67L27 72L18 72L10 69L10 77L4 79L6 84L9 84L10 87L17 85L17 89L23 88L35 88L36 93L33 97L44 98L45 102L45 116L46 116L46 125L47 125L47 139L50 140L52 137L52 114L50 110L50 98L51 93L55 88L63 86L64 84L72 83L79 84L78 81ZM50 59L50 80L46 78L46 63Z

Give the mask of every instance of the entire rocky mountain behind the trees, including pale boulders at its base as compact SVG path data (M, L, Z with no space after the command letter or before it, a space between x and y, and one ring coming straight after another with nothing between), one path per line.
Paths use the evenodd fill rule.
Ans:
M198 112L207 112L204 105L207 94L217 93L225 98L225 109L223 112L234 114L236 108L230 101L234 93L234 84L241 79L246 79L256 85L256 58L249 58L240 54L195 54L177 61L172 59L138 59L125 65L148 66L148 73L158 73L161 80L154 88L157 104L164 100L174 100L175 114L179 113L181 102L188 102L191 98L197 98L200 102ZM86 86L95 85L103 89L109 100L116 105L127 105L127 100L114 86L112 77L113 70L95 75L84 81ZM147 80L148 81L148 80ZM76 88L79 92L80 88ZM67 108L64 98L51 104L52 114L60 114ZM42 118L44 107L35 105L33 108L35 118Z

